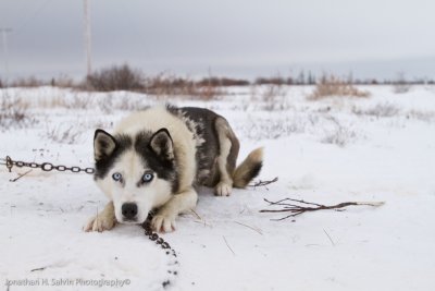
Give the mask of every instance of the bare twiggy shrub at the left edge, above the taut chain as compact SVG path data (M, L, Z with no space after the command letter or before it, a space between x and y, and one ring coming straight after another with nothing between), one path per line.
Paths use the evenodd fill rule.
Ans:
M0 128L24 128L35 122L28 114L28 102L25 102L21 98L11 98L5 94L1 96L0 100Z

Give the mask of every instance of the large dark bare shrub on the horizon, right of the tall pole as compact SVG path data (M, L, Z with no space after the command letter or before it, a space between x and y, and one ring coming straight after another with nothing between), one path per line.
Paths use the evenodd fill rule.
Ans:
M100 92L144 89L142 73L127 64L101 69L88 75L85 83L85 87Z

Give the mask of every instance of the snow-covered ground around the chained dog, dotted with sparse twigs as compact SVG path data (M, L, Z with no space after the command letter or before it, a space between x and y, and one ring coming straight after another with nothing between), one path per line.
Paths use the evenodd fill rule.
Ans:
M279 178L231 197L200 190L196 214L163 234L181 263L172 290L435 290L435 88L362 89L371 97L310 101L312 87L260 87L213 101L169 99L226 117L240 158L264 146L260 178ZM0 94L29 116L21 125L0 119L1 157L82 167L92 166L96 128L110 131L132 110L167 101L50 87ZM139 227L82 231L107 203L90 175L34 170L12 183L27 169L13 170L0 168L0 290L158 290L172 278L171 259ZM259 213L273 209L263 198L285 197L385 205L283 221ZM117 287L85 286L101 282Z

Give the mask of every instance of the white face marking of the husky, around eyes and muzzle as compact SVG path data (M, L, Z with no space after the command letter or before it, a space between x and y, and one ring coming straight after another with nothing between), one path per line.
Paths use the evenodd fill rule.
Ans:
M104 179L97 180L97 184L113 201L116 220L122 223L144 222L152 208L160 207L171 198L171 183L144 165L133 149L122 154ZM137 205L134 219L123 215L125 204Z

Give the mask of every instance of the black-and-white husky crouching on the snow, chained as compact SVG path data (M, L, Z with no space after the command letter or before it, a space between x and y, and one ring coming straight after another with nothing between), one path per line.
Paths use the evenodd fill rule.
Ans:
M152 210L154 230L175 230L178 214L197 204L195 186L228 196L258 175L262 148L236 168L238 150L228 122L201 108L149 108L122 120L113 135L97 130L95 181L110 202L84 229L142 223Z

